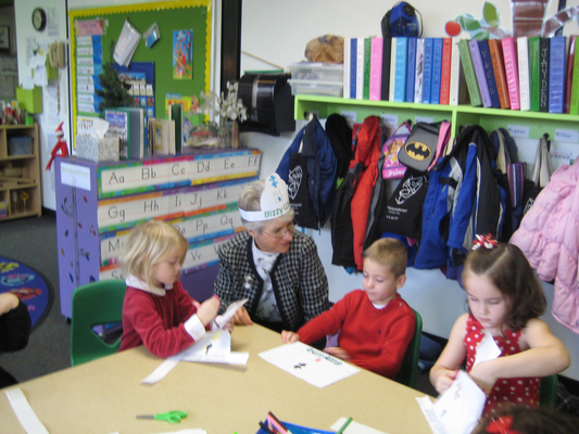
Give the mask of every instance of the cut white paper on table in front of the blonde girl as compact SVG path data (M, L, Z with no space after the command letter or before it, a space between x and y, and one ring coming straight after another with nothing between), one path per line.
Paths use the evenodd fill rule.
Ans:
M231 353L231 335L227 330L205 333L189 348L168 357L149 376L141 380L154 384L162 380L181 360L207 363L247 365L249 353Z

